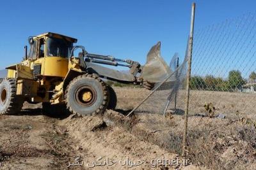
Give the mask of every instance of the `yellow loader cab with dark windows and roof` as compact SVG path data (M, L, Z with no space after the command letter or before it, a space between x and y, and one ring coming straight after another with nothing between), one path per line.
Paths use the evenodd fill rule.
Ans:
M28 59L33 61L35 76L64 78L68 72L68 57L77 39L48 32L29 37Z

